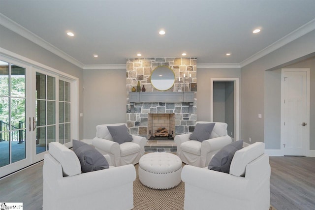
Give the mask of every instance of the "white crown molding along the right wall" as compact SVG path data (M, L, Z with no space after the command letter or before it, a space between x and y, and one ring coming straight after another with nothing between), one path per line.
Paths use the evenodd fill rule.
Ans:
M293 30L292 32L285 35L284 37L282 37L278 41L272 43L271 45L262 49L258 53L255 53L250 58L243 60L242 62L240 62L240 66L244 67L244 66L252 63L253 61L258 60L258 59L268 55L269 53L283 47L284 45L294 41L295 39L300 38L301 36L311 32L312 30L315 30L315 19L304 24L303 26L301 26L300 28L298 28L296 30Z

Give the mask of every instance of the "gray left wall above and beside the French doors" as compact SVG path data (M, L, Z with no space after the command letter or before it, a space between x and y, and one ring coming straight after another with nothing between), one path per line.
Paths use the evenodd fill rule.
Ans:
M3 26L0 26L0 47L77 77L79 79L79 113L83 113L83 69ZM79 118L79 138L83 138L83 118Z

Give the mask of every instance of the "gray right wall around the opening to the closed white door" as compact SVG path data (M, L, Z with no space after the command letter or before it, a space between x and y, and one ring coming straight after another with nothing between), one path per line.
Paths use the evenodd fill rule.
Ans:
M280 149L280 134L278 132L280 131L280 108L277 101L272 101L272 98L277 98L280 94L280 84L278 84L280 82L279 74L277 75L279 72L266 73L266 70L280 69L289 64L297 63L301 61L301 59L307 58L308 55L314 54L314 41L315 30L242 67L241 139L245 142L250 143L249 137L251 137L251 143L265 141L266 149ZM314 108L312 108L312 103L315 104L314 61L309 61L309 66L311 68L310 140L311 150L314 150L315 111ZM268 99L265 100L266 98ZM262 119L258 119L258 114L262 114ZM266 125L267 123L268 125Z

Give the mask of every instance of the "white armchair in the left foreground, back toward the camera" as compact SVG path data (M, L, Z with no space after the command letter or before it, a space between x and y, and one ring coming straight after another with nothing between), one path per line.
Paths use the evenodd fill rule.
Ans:
M74 151L50 143L44 156L43 210L133 209L135 178L133 165L81 173Z

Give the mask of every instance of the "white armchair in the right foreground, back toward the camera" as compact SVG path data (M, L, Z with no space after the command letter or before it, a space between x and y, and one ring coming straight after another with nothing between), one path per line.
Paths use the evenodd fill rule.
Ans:
M230 173L186 165L185 210L269 210L270 165L264 143L235 152Z

